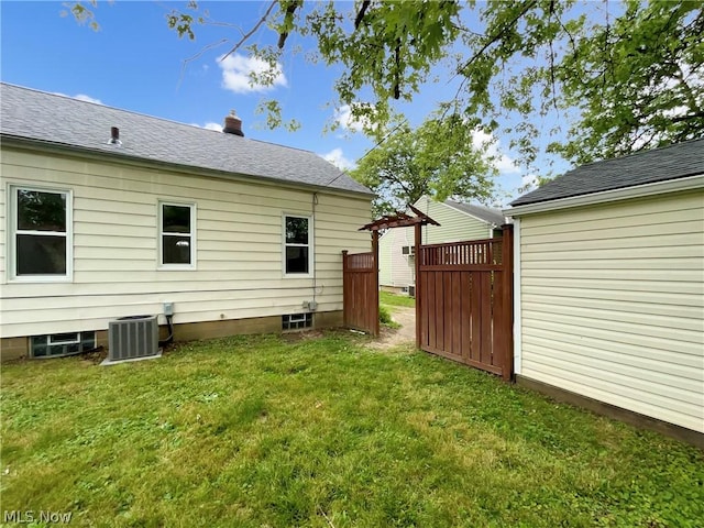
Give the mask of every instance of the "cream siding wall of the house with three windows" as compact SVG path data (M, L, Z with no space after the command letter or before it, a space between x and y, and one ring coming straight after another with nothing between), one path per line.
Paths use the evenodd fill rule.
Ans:
M284 277L282 255L283 215L312 215L312 190L3 150L8 185L72 190L74 276L19 283L3 268L3 338L106 329L164 301L176 323L301 312L314 295L318 311L341 310L341 252L370 250L358 231L370 199L358 195L318 191L314 280ZM160 200L196 205L196 270L158 268Z

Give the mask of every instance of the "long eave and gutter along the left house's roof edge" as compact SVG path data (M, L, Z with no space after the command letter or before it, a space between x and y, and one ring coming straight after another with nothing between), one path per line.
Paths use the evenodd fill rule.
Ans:
M2 140L2 144L7 144L10 146L19 146L22 148L35 148L48 152L58 152L63 154L72 154L80 157L92 158L97 161L105 161L105 158L109 158L116 163L127 163L130 165L140 165L140 166L152 166L158 168L168 168L169 170L175 170L178 173L187 173L193 175L194 170L197 172L198 175L201 176L211 176L223 179L241 179L249 183L258 183L264 185L276 185L284 186L289 188L305 188L310 190L326 190L329 193L341 193L345 195L358 195L361 197L366 197L373 199L376 195L372 191L362 191L362 190L352 190L344 189L341 187L328 187L322 185L314 185L306 184L301 182L289 182L286 179L274 178L271 176L261 176L261 175L248 175L241 173L231 173L227 170L217 170L213 168L200 167L196 165L184 165L170 162L163 162L160 160L152 160L148 157L140 157L132 156L130 154L124 154L121 152L107 152L95 148L86 148L77 145L68 145L65 143L53 143L44 140L35 140L32 138L11 135L6 133L0 133L0 139Z

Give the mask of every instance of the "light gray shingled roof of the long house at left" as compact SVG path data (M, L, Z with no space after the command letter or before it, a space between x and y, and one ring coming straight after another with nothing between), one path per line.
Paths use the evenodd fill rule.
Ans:
M0 84L0 133L114 156L372 194L312 152ZM120 129L121 146L108 144Z

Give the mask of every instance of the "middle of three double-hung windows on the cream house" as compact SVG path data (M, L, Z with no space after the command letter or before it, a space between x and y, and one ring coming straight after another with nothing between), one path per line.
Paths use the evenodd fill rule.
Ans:
M165 204L160 206L160 254L163 266L193 267L196 261L194 224L195 206Z

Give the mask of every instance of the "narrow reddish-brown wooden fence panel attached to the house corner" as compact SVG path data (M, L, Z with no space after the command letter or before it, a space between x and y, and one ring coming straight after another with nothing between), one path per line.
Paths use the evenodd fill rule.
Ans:
M344 326L378 336L378 266L375 253L342 252Z

